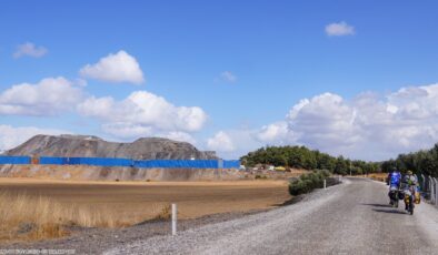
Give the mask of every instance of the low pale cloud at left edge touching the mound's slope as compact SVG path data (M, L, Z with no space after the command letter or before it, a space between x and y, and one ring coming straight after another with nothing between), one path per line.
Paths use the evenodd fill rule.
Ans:
M34 126L0 125L0 151L13 149L37 134L70 134L68 131Z

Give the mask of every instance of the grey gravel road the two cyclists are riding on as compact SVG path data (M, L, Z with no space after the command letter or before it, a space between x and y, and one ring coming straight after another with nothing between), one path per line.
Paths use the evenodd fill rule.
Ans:
M408 215L386 194L381 183L349 178L290 206L107 254L438 254L438 210L420 204Z

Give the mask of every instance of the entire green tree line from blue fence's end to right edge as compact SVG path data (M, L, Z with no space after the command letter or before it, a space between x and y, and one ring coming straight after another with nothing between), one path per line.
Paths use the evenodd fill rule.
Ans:
M328 170L336 174L367 174L411 170L416 174L438 176L438 143L430 150L400 154L395 160L365 162L331 156L305 146L267 146L240 159L247 166L275 165L305 170Z

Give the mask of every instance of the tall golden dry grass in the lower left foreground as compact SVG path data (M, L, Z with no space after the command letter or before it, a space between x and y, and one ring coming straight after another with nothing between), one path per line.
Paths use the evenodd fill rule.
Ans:
M156 211L157 218L168 217L167 206ZM70 226L125 227L141 221L91 205L66 205L46 196L0 193L0 241L57 238L69 235Z

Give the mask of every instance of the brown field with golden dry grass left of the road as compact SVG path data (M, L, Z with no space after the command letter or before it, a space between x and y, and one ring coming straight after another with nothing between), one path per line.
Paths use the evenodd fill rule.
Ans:
M268 208L289 200L285 181L68 182L0 178L0 241L67 235L62 226L122 227L179 218ZM29 230L27 230L29 228Z

